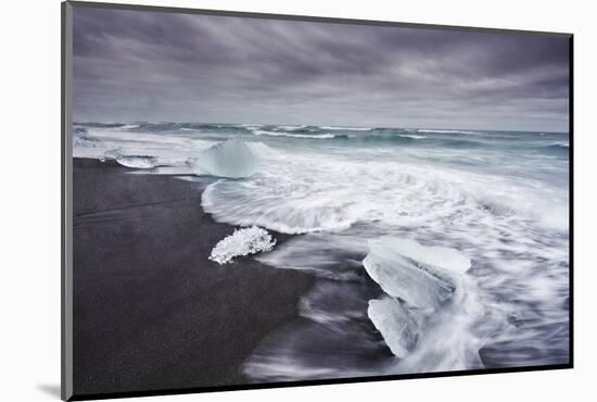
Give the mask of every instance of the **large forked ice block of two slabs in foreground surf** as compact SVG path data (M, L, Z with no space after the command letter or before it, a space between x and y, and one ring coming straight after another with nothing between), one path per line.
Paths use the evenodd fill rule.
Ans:
M369 301L369 319L392 353L404 359L415 350L430 319L445 316L445 309L462 302L462 274L471 263L455 249L386 237L369 241L363 265L386 293ZM454 302L447 304L448 299Z

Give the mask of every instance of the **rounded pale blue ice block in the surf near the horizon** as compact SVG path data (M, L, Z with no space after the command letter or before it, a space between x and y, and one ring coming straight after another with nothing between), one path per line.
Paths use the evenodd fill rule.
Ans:
M258 163L257 156L237 137L213 145L192 161L195 173L227 178L252 176Z

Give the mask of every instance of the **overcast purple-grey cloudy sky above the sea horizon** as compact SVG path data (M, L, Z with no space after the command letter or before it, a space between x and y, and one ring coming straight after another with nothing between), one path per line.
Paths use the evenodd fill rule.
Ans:
M75 8L78 122L568 130L568 40Z

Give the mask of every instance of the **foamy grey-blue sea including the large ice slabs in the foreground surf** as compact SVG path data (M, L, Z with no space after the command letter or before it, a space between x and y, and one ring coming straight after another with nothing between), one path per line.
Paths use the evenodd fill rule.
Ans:
M297 235L256 257L317 277L302 318L246 361L254 380L568 363L568 134L115 123L76 124L73 147L188 175L229 138L257 173L215 180L204 210ZM429 279L453 255L466 268ZM405 277L412 267L427 276Z

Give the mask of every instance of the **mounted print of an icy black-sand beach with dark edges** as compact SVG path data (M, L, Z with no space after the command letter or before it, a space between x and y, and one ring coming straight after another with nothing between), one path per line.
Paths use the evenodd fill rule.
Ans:
M63 3L63 398L572 367L571 55Z

